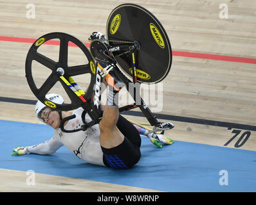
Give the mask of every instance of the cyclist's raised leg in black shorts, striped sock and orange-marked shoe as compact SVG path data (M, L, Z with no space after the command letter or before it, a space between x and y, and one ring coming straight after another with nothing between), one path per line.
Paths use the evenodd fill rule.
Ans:
M107 77L109 94L107 96L107 104L104 106L102 120L99 124L100 145L104 153L104 164L112 168L130 168L140 160L140 144L134 145L129 138L133 135L138 135L140 138L140 135L135 128L127 132L123 132L122 130L124 129L122 128L121 130L118 129L118 127L122 127L120 122L118 123L121 120L119 120L118 109L120 86L116 84L116 81L110 75Z

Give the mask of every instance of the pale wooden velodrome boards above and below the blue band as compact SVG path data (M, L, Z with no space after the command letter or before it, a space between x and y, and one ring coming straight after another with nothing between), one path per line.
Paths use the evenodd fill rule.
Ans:
M35 19L26 17L30 10L26 8L28 3L35 5ZM93 31L105 33L109 13L122 3L127 1L25 3L0 0L0 119L41 123L34 115L32 104L19 103L23 99L36 100L24 76L26 54L33 40L59 31L87 42ZM163 106L156 109L159 119L162 117L175 124L166 135L185 142L256 151L256 1L130 0L129 3L139 4L154 13L172 44L172 69L161 82ZM228 5L228 19L219 17L221 3ZM54 56L58 53L57 46L48 45L44 52ZM79 63L82 59L82 54L75 49L70 56L71 63ZM40 68L36 74L39 81L44 78ZM87 85L84 79L78 79L80 81L81 85ZM156 106L151 102L148 104L149 107ZM138 113L139 110L135 111ZM126 117L147 122L140 116ZM240 130L241 134L228 143L234 129ZM247 134L237 143L244 132ZM0 190L4 192L150 191L43 174L37 175L40 186L32 189L22 183L23 172L5 169L0 169L0 178ZM58 186L67 181L74 184L73 189Z

